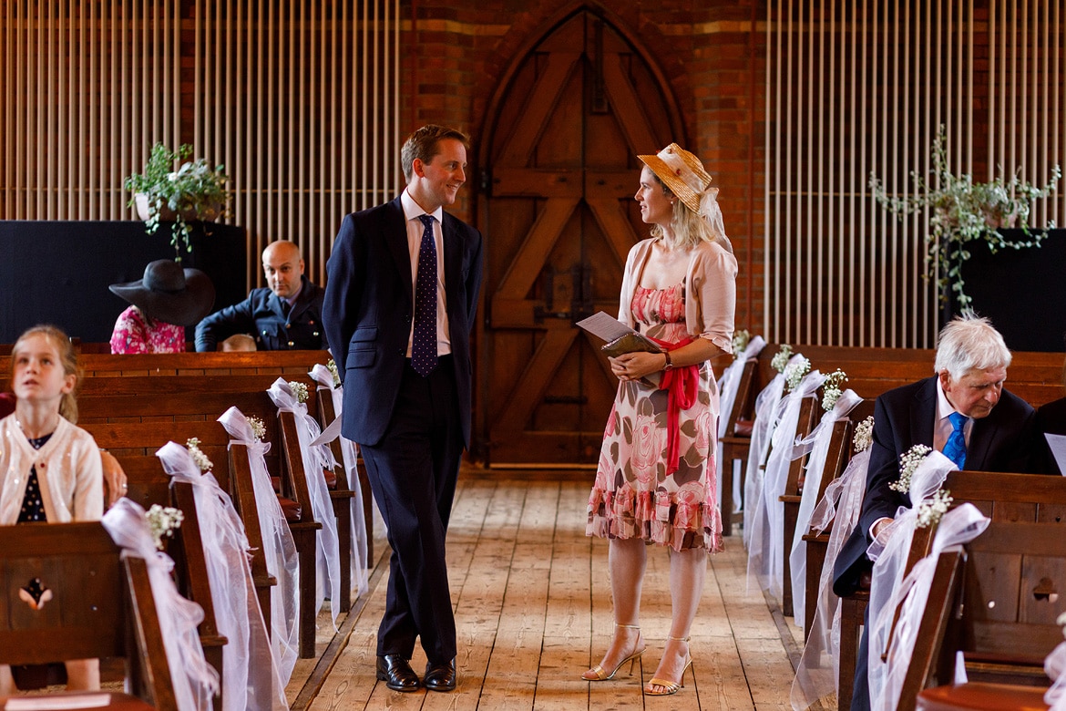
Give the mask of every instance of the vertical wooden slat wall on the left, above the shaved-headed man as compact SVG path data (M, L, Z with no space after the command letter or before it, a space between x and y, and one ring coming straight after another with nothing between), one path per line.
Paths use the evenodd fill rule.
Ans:
M248 282L402 187L400 1L0 0L0 220L132 220L151 144L222 163ZM384 149L383 149L384 146Z

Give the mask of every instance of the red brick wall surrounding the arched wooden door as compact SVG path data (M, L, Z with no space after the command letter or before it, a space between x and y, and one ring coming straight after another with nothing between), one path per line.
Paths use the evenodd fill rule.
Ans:
M753 7L754 3L754 7ZM740 263L737 326L761 332L765 6L759 0L411 0L403 10L403 130L426 123L469 132L471 165L489 101L507 68L552 27L585 6L648 50L682 108L687 135L722 189ZM472 175L470 179L478 180ZM457 212L477 223L477 191Z

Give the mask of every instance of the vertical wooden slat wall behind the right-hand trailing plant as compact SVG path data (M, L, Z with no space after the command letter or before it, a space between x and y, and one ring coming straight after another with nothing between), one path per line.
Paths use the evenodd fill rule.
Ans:
M772 0L768 3L764 323L772 341L931 348L939 308L922 278L927 214L873 200L949 162L1044 184L1066 164L1061 0ZM1034 206L1061 223L1066 191Z

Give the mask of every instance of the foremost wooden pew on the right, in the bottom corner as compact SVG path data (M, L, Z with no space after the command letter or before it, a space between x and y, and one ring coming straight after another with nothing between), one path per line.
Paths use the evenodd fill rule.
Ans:
M899 709L911 711L930 683L951 683L955 650L978 681L1049 685L1044 658L1062 642L1066 591L1066 536L1053 526L994 521L965 553L940 555Z

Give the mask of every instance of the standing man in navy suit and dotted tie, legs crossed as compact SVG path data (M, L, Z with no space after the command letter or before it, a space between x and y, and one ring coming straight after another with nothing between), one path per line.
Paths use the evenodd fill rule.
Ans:
M427 658L421 685L451 691L456 681L445 535L470 443L482 238L443 207L466 181L467 147L459 131L415 131L401 150L406 190L346 215L327 263L323 318L344 385L341 432L362 449L392 547L377 678L404 692L420 685L409 664L416 637Z

